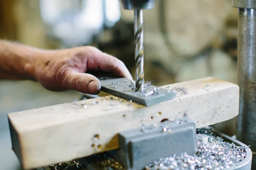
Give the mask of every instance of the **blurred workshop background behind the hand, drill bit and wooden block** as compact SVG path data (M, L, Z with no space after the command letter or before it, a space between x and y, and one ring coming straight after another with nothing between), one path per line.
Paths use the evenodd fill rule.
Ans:
M161 86L211 76L236 83L237 14L231 0L157 0L154 9L143 12L145 80ZM133 20L133 11L123 10L119 0L0 2L1 39L45 49L93 45L125 62L132 75ZM7 113L80 97L76 91L47 91L35 82L0 81L0 142L9 139ZM215 128L232 136L235 120ZM0 153L16 160L7 142L10 147Z

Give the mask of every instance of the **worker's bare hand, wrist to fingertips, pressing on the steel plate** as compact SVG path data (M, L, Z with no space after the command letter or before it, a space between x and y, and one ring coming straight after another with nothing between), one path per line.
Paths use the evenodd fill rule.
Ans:
M91 46L44 51L33 60L33 77L51 91L73 89L98 94L100 81L87 74L88 71L104 71L132 79L122 61Z

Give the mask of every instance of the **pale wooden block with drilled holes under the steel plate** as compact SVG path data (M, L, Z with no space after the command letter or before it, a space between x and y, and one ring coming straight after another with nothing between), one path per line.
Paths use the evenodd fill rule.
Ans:
M237 85L208 77L163 88L168 86L184 87L189 94L150 107L106 96L10 113L13 149L29 169L116 149L120 131L143 123L187 115L204 127L238 115Z

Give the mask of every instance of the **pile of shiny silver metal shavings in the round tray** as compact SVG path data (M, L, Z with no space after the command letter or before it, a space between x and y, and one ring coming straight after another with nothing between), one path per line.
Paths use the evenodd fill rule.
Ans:
M208 136L208 143L198 141L195 155L183 153L154 161L146 170L222 170L238 164L245 156L245 147L224 142L210 128L198 129Z

